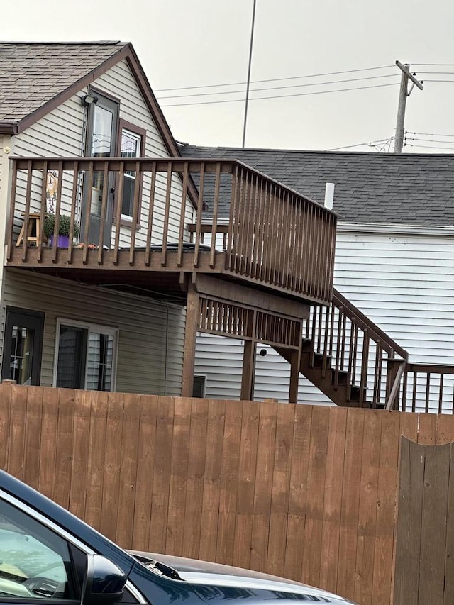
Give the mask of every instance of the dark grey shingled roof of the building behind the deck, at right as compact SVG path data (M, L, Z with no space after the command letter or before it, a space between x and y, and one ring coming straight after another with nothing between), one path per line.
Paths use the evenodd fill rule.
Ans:
M323 204L336 185L339 221L454 226L454 155L320 152L182 145L184 157L240 160ZM228 216L228 200L221 209Z

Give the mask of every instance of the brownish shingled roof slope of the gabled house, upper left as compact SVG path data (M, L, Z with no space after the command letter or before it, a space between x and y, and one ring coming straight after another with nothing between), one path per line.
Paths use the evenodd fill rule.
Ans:
M124 42L0 43L0 132L21 131L35 111L128 50Z

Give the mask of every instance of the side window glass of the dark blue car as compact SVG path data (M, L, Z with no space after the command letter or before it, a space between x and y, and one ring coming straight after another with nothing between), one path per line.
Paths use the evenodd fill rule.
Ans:
M72 571L66 540L0 499L0 598L76 599Z

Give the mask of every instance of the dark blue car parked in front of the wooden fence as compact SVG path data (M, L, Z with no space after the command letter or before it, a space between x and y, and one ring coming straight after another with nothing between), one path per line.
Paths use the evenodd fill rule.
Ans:
M0 471L0 604L341 604L340 596L202 561L127 553L65 509Z

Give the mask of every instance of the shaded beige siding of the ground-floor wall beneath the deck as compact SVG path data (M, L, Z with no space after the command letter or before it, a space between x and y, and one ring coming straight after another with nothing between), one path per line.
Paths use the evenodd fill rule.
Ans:
M45 313L41 384L52 385L57 318L118 328L116 390L181 394L184 310L29 272L6 270L6 305Z

